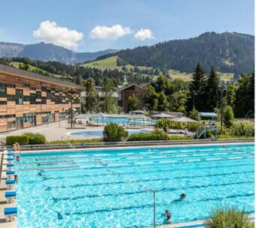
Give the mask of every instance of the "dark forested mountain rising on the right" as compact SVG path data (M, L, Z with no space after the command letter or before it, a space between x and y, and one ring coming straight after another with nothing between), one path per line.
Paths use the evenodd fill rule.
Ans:
M191 73L197 62L209 72L211 66L224 73L251 73L254 68L254 36L236 32L206 32L198 37L169 40L153 46L123 49L117 55L121 65L147 66Z

